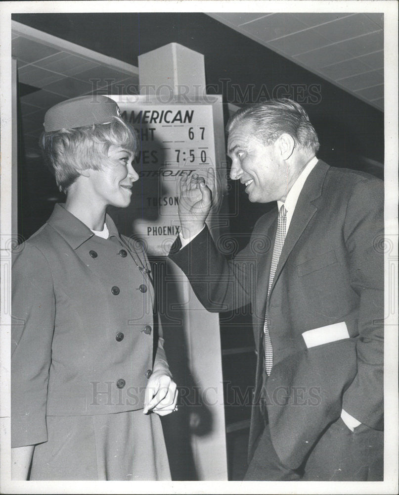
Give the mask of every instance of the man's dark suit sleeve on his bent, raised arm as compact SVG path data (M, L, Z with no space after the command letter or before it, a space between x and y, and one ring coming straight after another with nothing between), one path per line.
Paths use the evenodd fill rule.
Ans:
M255 229L254 229L255 232ZM262 236L251 242L231 261L216 247L207 226L187 246L179 238L169 253L185 273L202 305L211 312L231 311L254 299L256 260Z

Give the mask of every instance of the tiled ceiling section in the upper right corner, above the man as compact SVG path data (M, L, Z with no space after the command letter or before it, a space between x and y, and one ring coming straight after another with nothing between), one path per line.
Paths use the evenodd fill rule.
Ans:
M383 99L374 98L377 90L356 91L384 84L383 14L268 13L255 19L259 13L208 15L384 110Z

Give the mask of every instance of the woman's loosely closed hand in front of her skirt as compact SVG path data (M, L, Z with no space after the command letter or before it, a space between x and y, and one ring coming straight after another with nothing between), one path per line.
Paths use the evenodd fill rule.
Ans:
M145 389L143 414L149 411L159 416L170 414L175 410L177 396L177 385L172 377L163 370L154 371Z

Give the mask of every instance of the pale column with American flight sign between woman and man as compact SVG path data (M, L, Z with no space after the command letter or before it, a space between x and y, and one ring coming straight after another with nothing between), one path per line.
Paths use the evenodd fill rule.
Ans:
M142 209L141 215L135 211L132 229L156 258L166 256L176 238L178 178L202 175L208 167L220 172L225 157L222 98L205 95L200 53L172 43L140 55L138 62L140 97L130 106L122 100L118 104L141 140L136 170L142 177L142 204L135 206ZM210 228L217 238L213 219L217 217L211 215ZM178 412L163 418L172 476L180 467L177 479L227 480L219 315L202 307L173 263L157 265L165 347L182 387ZM187 436L179 442L183 424ZM185 465L187 447L195 472L191 475Z

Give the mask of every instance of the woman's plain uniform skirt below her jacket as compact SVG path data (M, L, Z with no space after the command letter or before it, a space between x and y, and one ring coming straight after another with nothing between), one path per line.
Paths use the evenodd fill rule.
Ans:
M170 480L157 414L47 416L48 441L35 446L30 480Z

